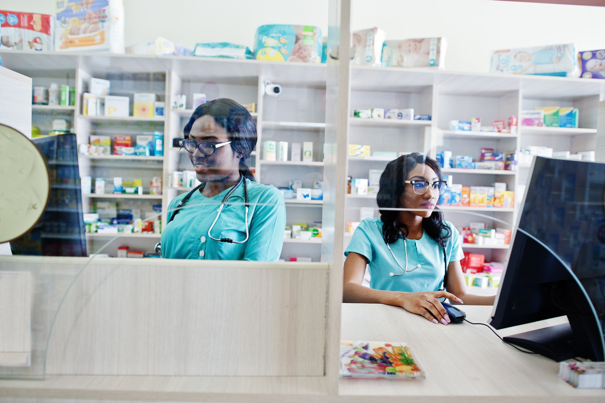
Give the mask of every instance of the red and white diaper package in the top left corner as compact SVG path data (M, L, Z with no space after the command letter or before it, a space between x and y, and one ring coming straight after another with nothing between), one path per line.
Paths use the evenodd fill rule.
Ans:
M2 50L53 50L54 18L47 14L0 10Z

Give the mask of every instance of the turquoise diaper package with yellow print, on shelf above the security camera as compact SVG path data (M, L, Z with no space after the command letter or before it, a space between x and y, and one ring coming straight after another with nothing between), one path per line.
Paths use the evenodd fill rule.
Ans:
M254 36L258 60L320 63L321 28L313 25L261 25Z

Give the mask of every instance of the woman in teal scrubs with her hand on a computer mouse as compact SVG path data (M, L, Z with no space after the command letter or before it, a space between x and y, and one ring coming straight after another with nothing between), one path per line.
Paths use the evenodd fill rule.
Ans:
M445 186L439 164L430 157L413 152L388 163L380 179L378 207L419 210L381 209L381 218L361 221L345 251L345 303L400 306L444 325L450 318L437 298L494 303L495 297L468 293L460 267L460 234L434 210ZM370 288L361 285L366 264Z

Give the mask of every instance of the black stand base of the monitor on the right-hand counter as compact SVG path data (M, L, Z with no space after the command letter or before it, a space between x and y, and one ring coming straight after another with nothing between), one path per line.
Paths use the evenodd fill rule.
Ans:
M574 332L572 332L569 323L543 327L542 329L503 338L506 342L554 359L557 362L578 356L577 349L574 349L572 345L573 339Z

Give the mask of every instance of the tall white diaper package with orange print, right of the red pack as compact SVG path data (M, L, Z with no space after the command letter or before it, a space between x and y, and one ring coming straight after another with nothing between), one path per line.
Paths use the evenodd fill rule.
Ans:
M122 0L56 0L54 51L124 53Z

